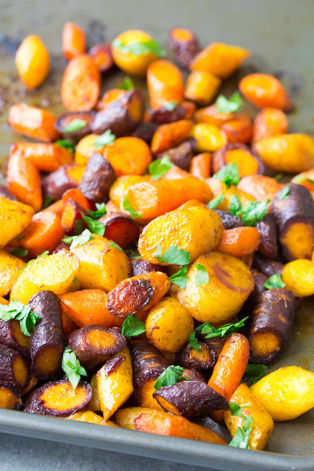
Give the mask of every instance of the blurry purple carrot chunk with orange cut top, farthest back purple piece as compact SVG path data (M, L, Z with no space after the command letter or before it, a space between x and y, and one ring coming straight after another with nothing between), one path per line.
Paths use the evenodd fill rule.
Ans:
M195 34L186 28L170 30L169 43L176 61L185 69L200 50Z

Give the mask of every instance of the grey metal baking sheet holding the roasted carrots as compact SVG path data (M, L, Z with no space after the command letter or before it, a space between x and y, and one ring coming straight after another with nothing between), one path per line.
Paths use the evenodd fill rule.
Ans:
M42 106L55 114L64 109L60 83L65 60L61 56L61 31L65 21L80 24L89 44L110 41L121 31L140 28L167 47L170 27L190 27L203 46L210 41L239 44L252 56L234 76L225 81L223 92L233 91L249 72L276 74L296 102L289 115L290 130L314 136L314 70L310 60L313 43L314 2L301 0L2 0L0 16L0 179L5 177L8 147L21 140L7 124L8 107L16 102ZM29 33L39 34L51 52L51 73L38 90L27 91L18 80L14 52ZM172 59L171 54L169 58ZM108 89L123 74L104 78ZM143 88L144 81L134 80ZM246 107L250 114L253 108ZM307 299L299 311L290 342L269 367L298 365L314 371L314 309ZM210 426L210 422L200 422ZM223 428L221 426L221 430ZM53 417L0 409L0 431L52 439L106 450L132 453L223 470L313 470L314 411L290 422L276 422L267 452L252 452L184 439L162 437L133 430L98 427Z

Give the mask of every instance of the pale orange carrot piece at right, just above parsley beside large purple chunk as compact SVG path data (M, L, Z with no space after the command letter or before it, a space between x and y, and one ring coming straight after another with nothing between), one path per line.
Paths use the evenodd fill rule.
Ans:
M273 200L275 193L283 185L277 180L265 175L246 175L238 183L237 188L253 196L257 201Z

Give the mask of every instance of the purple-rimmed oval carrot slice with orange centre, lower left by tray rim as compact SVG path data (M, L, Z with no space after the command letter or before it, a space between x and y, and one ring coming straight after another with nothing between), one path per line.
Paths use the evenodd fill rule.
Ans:
M48 382L27 398L24 412L66 417L84 409L91 396L91 387L85 381L81 381L75 391L68 381Z

